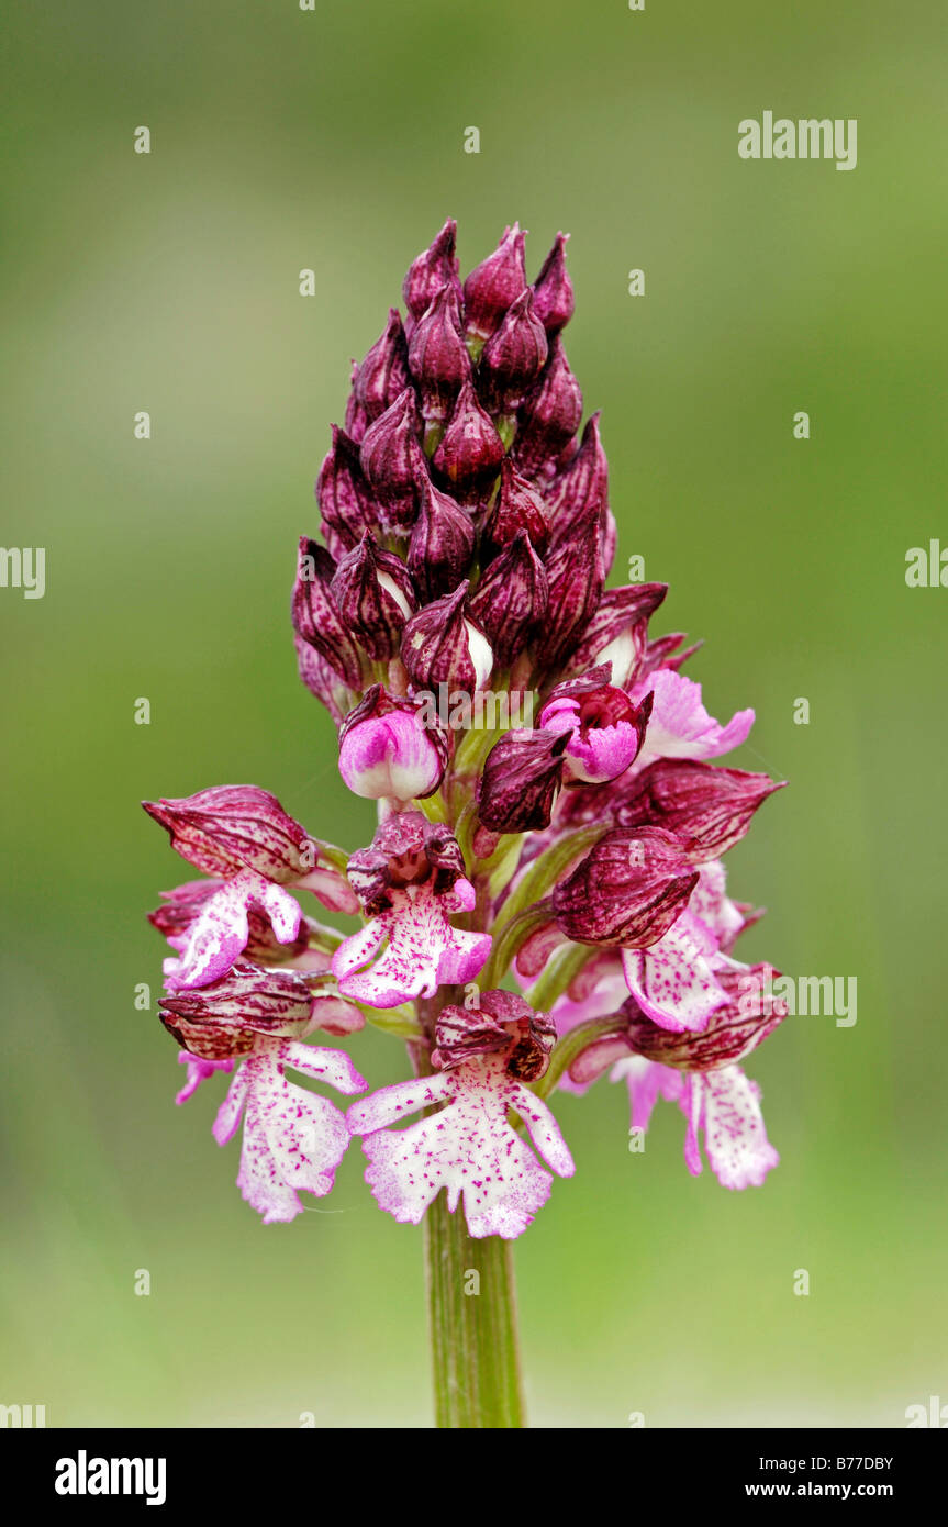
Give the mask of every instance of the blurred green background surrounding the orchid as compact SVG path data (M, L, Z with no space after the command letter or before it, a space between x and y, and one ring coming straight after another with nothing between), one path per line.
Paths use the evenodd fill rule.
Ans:
M356 1150L263 1229L134 986L188 878L140 797L253 780L314 834L371 832L289 588L350 357L446 215L463 269L514 218L531 275L571 231L614 582L632 554L670 582L655 628L705 638L711 713L757 710L734 762L792 782L730 857L771 909L745 957L858 977L855 1028L798 1019L750 1066L783 1156L760 1191L690 1179L669 1106L634 1156L623 1089L557 1102L579 1173L518 1249L531 1419L901 1426L948 1399L948 591L904 577L948 542L942 27L934 0L9 8L3 541L47 548L47 589L0 589L2 1402L430 1423L420 1232ZM858 118L856 169L740 160L765 108ZM408 1073L397 1041L351 1049Z

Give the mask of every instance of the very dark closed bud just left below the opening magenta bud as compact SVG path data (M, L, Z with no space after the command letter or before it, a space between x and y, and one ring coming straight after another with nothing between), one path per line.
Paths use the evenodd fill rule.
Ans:
M507 731L487 754L478 815L492 832L533 832L550 826L563 777L566 734Z

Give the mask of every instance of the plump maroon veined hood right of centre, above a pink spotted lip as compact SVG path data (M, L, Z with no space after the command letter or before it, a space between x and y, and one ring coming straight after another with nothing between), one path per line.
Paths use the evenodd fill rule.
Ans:
M684 912L698 870L659 828L615 828L553 892L560 930L577 944L647 948Z

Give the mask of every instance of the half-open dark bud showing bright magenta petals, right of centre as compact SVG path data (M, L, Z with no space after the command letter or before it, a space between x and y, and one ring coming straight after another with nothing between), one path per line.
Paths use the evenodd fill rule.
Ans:
M540 727L569 736L563 757L566 779L588 785L618 779L644 744L652 696L635 705L608 680L608 666L591 669L583 678L557 684L540 710Z

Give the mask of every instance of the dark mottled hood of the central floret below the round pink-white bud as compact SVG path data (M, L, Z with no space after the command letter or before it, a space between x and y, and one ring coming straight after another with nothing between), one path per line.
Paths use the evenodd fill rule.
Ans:
M347 875L369 918L388 912L392 892L409 886L427 884L437 896L459 893L458 907L473 906L458 840L450 828L427 822L420 811L392 812L380 822L372 846L350 857Z

